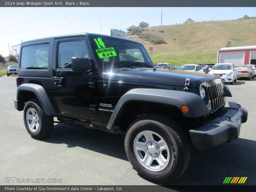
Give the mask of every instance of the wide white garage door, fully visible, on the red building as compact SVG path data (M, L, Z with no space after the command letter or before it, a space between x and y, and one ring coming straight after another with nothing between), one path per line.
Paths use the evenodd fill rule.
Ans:
M244 65L244 52L220 53L220 63L233 63L234 65Z

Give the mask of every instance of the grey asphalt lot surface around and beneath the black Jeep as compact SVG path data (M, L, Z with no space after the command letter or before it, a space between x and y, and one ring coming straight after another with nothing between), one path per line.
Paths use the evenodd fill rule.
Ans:
M124 138L115 134L55 124L49 138L32 139L23 111L14 108L16 77L0 77L0 185L156 185L132 169ZM222 185L225 177L248 177L244 185L256 185L256 79L238 79L228 87L233 97L227 101L249 112L240 137L207 151L192 147L186 172L171 185ZM62 182L17 183L6 178Z

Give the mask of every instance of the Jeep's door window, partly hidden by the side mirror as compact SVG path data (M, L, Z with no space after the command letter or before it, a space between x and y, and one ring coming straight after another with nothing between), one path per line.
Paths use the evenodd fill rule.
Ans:
M60 42L58 45L58 68L71 68L72 57L87 57L84 41Z

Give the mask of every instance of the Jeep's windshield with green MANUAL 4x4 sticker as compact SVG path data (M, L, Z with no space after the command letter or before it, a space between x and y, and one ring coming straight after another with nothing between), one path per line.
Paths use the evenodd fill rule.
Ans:
M102 39L101 39L102 38ZM150 67L153 63L144 46L137 42L106 36L90 36L96 60L105 67Z

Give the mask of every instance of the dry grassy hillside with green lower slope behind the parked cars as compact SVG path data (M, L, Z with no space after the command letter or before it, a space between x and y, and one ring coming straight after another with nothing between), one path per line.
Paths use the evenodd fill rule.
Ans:
M226 47L228 41L232 47L256 45L256 18L149 27L143 33L162 37L167 43L154 45L127 34L126 38L143 43L148 53L153 47L151 59L155 63L216 62L218 47Z

